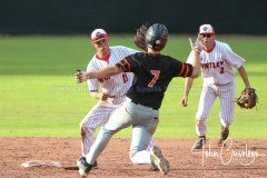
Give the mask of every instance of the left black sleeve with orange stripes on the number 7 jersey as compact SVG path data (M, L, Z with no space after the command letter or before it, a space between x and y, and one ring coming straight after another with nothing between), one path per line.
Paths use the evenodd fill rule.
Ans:
M126 57L126 59L116 63L117 68L123 70L123 72L135 72L140 67L137 56L138 53Z

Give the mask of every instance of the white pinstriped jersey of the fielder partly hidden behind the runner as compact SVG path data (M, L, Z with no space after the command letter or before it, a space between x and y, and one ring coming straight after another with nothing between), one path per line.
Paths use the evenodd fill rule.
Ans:
M116 46L110 47L110 52L108 61L98 59L95 55L87 67L87 71L96 71L107 66L113 66L127 56L139 51L122 46ZM87 82L90 91L98 90L99 83L101 83L103 92L108 92L112 97L120 97L128 91L132 85L132 73L125 72L107 79L89 79Z

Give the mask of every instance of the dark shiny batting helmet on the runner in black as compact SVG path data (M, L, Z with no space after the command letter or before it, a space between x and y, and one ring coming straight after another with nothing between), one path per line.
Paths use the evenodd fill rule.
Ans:
M150 26L146 34L146 43L148 48L160 51L165 48L168 41L168 29L160 23Z

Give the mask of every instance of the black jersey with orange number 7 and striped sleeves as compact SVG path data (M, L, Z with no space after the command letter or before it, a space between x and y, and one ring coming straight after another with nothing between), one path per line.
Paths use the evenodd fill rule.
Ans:
M169 56L138 52L116 63L125 72L135 73L127 92L134 102L159 109L165 91L174 77L189 77L192 66Z

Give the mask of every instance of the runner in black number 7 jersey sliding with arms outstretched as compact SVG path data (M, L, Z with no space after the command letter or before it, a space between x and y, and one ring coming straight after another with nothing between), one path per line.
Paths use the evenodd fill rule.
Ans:
M81 177L87 177L98 156L108 145L112 135L132 126L131 154L151 164L164 175L169 171L169 162L160 149L155 147L151 152L146 150L159 121L159 108L165 91L174 77L191 77L199 75L199 52L192 48L192 65L181 62L169 56L160 55L168 40L168 29L160 23L149 27L146 34L148 52L138 52L111 67L87 73L76 73L78 82L92 78L106 78L120 72L134 72L135 83L127 92L127 100L109 118L86 158L77 165Z

